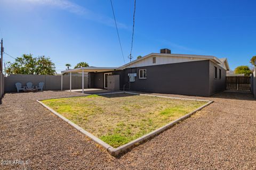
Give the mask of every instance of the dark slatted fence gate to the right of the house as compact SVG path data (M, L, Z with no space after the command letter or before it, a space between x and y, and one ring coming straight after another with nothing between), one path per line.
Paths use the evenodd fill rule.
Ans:
M250 76L227 76L226 89L232 91L251 91Z

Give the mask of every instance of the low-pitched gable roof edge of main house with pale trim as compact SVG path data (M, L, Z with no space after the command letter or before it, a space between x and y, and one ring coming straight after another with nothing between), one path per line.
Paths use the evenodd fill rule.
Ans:
M145 58L148 58L150 56L170 56L170 57L189 57L189 58L203 58L203 59L206 59L206 60L211 60L213 61L214 63L217 63L217 64L223 64L224 62L226 62L226 67L227 67L227 70L229 70L229 66L228 66L228 63L227 63L227 58L217 58L215 56L211 56L211 55L193 55L193 54L163 54L163 53L150 53L146 56L143 56L137 60L134 60L130 63L127 63L125 65L122 65L120 67L126 67L126 66L129 66L130 64L133 64L133 63L136 63L136 62L139 62L141 60L144 60Z

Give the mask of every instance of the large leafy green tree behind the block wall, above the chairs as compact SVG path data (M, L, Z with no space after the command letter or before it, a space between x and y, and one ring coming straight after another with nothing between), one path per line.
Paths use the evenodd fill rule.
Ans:
M15 58L14 62L7 62L7 74L55 74L55 65L49 57L33 57L31 54L23 54Z

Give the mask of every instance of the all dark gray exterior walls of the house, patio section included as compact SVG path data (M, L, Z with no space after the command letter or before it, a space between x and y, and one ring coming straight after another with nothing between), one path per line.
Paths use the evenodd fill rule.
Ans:
M210 60L173 63L153 66L134 67L123 71L113 71L120 75L120 89L129 89L128 74L137 73L131 90L179 94L189 96L210 96L226 89L226 70L222 69L221 80L214 79L214 66L222 69ZM147 79L139 79L139 70L147 69ZM219 70L218 70L219 73ZM92 88L103 88L104 73L92 73ZM219 74L218 74L219 77Z

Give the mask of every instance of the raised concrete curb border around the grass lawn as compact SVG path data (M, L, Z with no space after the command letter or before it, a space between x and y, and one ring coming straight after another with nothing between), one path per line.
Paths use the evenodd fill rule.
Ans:
M103 148L105 148L108 153L112 156L118 156L121 153L126 152L127 150L131 149L133 146L138 145L144 141L146 141L147 139L154 137L155 135L165 131L166 129L171 128L172 126L174 126L175 124L185 120L186 118L190 117L191 115L195 114L197 111L200 111L201 109L203 109L204 107L210 105L211 103L213 103L212 100L202 100L202 99L191 99L191 98L178 98L178 97L168 97L168 96L158 96L158 95L147 95L147 94L137 94L135 92L128 92L128 91L119 91L119 92L108 92L108 93L102 93L102 94L97 94L97 95L111 95L111 94L133 94L133 95L141 95L141 96L151 96L151 97L162 97L162 98L170 98L170 99L179 99L179 100L193 100L193 101L205 101L207 102L205 105L197 108L195 111L190 112L180 118L178 118L177 120L174 120L164 126L162 126L161 128L158 128L148 134L143 135L142 137L135 139L129 143L126 143L125 145L122 145L120 147L114 148L111 147L110 145L108 145L108 143L100 140L99 138L95 137L93 134L91 134L90 132L87 132L86 130L84 130L83 128L81 128L80 126L78 126L77 124L71 122L70 120L68 120L66 117L62 116L61 114L59 114L58 112L54 111L52 108L50 108L49 106L45 105L42 103L41 100L36 100L39 104L41 104L42 106L44 106L45 108L47 108L49 111L51 111L54 115L58 116L59 118L61 118L63 121L67 122L69 125L73 126L73 128L75 128L77 131L81 132L82 134L86 135L86 137L90 138L92 141L94 141L95 143L98 143L98 145L102 146ZM93 94L89 94L89 95L83 95L83 96L90 96ZM81 97L81 96L71 96L71 97ZM61 98L70 98L69 97L61 97ZM51 98L51 99L57 99L57 98ZM42 100L47 100L47 99L42 99Z

